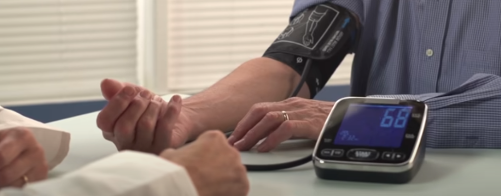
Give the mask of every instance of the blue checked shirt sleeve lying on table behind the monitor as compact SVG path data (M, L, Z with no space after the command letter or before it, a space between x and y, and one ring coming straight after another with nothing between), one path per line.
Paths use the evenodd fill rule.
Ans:
M427 147L501 148L501 77L475 74L445 93L374 95L428 105Z

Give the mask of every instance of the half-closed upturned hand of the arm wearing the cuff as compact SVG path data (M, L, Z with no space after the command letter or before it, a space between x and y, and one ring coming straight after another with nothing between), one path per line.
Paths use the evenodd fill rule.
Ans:
M190 137L181 97L166 102L143 87L110 79L102 81L101 91L108 104L99 113L97 126L119 151L158 155L182 146Z

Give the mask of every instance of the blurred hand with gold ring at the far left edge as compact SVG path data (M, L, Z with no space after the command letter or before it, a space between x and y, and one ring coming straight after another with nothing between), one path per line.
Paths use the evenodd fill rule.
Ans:
M47 178L44 150L25 128L0 130L0 189Z

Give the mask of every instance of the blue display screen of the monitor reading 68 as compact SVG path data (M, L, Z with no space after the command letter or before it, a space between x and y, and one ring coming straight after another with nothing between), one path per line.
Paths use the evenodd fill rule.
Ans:
M399 148L412 106L350 104L335 145Z

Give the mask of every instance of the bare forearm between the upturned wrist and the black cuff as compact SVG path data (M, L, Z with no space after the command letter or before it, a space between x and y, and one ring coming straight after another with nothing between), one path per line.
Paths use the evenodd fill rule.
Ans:
M270 58L243 63L210 88L183 101L184 109L198 124L194 135L233 129L254 104L288 98L300 79L291 67ZM310 97L306 84L299 96Z

